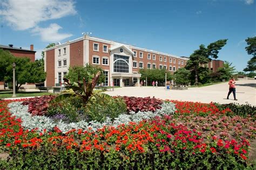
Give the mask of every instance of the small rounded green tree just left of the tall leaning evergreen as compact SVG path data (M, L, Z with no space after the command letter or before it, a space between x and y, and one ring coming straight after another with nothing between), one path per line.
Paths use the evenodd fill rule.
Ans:
M174 73L174 80L177 85L188 85L190 83L190 70L180 68Z

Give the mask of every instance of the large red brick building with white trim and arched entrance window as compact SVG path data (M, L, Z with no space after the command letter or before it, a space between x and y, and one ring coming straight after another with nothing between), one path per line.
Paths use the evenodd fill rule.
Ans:
M62 83L69 67L85 66L87 63L104 70L104 86L133 86L140 81L139 69L159 68L175 72L185 67L188 60L87 35L47 48L44 56L47 73L45 86Z

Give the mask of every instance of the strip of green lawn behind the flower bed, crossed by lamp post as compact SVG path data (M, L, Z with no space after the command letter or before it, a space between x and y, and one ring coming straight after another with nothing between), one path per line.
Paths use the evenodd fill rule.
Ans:
M43 95L50 95L52 93L47 92L40 92L40 91L19 91L16 93L17 97L32 97L32 96L43 96ZM12 97L12 91L2 91L0 90L0 98L11 98Z

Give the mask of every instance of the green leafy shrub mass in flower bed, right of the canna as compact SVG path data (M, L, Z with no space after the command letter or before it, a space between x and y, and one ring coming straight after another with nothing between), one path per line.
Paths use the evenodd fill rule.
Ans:
M95 96L97 103L87 103L84 107L84 114L89 117L89 121L103 122L106 117L111 119L126 112L126 104L122 98L106 100L100 96Z

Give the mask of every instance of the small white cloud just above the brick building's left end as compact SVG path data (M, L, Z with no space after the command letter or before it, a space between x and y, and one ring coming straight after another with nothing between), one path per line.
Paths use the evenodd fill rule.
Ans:
M56 23L53 23L50 24L49 27L45 28L35 27L32 32L41 36L42 41L45 42L56 42L72 36L72 34L68 33L59 33L59 29L62 29L62 27Z

